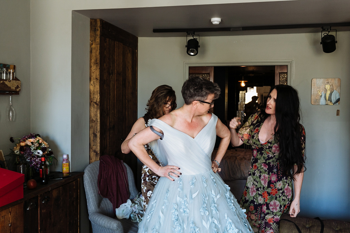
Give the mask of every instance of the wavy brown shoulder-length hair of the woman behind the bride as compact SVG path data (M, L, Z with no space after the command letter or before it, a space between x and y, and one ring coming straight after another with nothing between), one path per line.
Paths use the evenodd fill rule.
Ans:
M145 122L149 119L159 118L164 115L164 103L170 101L173 104L171 111L176 108L176 95L172 87L168 85L161 85L156 87L149 98L146 106L146 114L144 116Z

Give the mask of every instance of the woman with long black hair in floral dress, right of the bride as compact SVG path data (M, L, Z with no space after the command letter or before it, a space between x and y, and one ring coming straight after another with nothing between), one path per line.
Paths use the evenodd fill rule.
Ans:
M296 217L304 176L305 130L299 123L299 97L288 85L270 90L261 111L239 129L230 122L231 144L252 145L252 161L240 205L254 232L278 233L281 214ZM293 182L294 180L294 199Z

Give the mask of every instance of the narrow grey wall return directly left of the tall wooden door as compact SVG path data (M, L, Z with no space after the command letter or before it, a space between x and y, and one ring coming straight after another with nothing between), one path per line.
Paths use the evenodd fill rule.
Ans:
M89 165L90 19L72 12L71 169ZM80 189L80 231L89 232L85 189Z

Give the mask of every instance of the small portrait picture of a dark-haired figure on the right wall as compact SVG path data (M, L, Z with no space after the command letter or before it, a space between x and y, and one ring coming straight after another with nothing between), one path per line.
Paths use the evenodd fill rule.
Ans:
M312 79L311 104L340 104L340 79Z

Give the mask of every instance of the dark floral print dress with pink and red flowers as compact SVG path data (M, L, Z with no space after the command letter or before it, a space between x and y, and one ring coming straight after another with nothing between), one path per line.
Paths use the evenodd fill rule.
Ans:
M279 220L289 212L293 201L293 183L282 174L279 164L279 143L274 135L261 143L259 112L253 114L238 131L245 144L252 145L252 161L240 205L254 232L278 233ZM302 151L305 150L305 130L302 127Z

